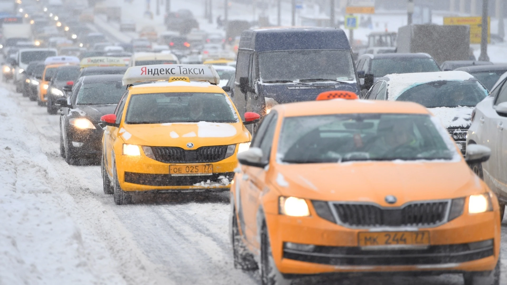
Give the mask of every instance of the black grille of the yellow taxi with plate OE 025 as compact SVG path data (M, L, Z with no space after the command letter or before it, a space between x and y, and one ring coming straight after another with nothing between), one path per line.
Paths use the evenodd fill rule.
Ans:
M152 147L155 160L164 163L206 163L225 158L227 146L200 147L197 150L184 150L176 147Z

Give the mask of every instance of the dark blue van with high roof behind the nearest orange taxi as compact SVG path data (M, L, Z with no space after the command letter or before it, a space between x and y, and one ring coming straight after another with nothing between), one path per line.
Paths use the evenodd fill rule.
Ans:
M232 100L243 115L263 117L272 104L311 101L330 90L360 94L352 49L334 28L245 30L239 41Z

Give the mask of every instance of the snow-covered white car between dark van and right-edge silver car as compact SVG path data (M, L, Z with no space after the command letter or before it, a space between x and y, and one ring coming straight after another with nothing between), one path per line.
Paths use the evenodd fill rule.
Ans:
M390 74L380 78L366 99L412 101L429 109L447 128L462 154L474 107L488 90L463 71Z

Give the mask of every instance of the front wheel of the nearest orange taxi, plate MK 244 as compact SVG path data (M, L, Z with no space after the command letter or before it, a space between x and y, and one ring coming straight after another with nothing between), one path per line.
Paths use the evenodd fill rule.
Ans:
M289 285L291 281L284 278L276 268L271 244L269 242L268 229L263 223L261 230L261 284L262 285Z

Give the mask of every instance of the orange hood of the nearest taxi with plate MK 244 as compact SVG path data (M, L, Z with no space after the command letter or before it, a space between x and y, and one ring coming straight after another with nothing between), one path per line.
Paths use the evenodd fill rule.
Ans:
M269 181L283 196L323 201L374 202L400 206L409 201L464 197L485 186L461 159L441 161L363 161L277 164ZM394 195L395 204L385 196Z

